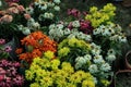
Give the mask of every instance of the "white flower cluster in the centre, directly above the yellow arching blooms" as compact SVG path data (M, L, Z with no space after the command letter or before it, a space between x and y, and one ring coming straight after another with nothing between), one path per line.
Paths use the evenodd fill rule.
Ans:
M79 32L78 28L73 28L73 30L70 30L69 28L66 28L63 24L51 24L49 26L49 37L56 40L59 40L63 36L67 36L68 38L78 38L83 39L86 41L91 41L92 37L91 35L83 34L82 32Z

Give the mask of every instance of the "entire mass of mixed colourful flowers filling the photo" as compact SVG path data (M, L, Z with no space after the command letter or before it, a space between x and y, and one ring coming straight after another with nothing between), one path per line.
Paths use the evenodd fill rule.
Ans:
M111 84L114 62L128 42L122 27L114 22L112 3L88 11L67 7L66 17L60 0L0 2L0 87ZM10 60L13 57L15 61Z

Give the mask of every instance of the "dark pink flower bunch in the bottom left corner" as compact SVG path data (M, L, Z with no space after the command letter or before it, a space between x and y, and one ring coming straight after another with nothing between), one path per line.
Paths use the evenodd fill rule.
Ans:
M1 87L22 87L24 76L17 73L20 67L19 62L10 62L0 60L0 86Z

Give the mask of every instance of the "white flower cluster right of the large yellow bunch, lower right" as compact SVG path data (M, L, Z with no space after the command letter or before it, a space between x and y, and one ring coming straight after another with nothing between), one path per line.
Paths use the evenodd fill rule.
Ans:
M75 69L82 69L83 66L87 66L90 73L95 75L100 75L103 77L107 76L107 72L111 72L110 63L106 60L112 61L112 59L104 59L100 54L102 49L99 46L95 45L94 42L91 44L91 53L85 54L84 57L78 57L75 59ZM107 54L115 54L112 49L108 50Z

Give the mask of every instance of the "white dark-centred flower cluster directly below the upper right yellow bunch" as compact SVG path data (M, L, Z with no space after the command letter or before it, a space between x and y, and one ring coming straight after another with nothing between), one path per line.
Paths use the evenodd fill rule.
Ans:
M98 28L93 30L94 35L102 35L108 37L112 41L126 42L127 38L122 33L122 28L119 25L100 25Z

